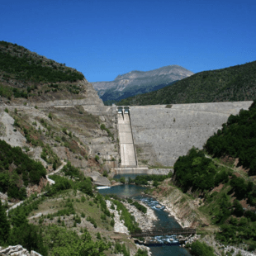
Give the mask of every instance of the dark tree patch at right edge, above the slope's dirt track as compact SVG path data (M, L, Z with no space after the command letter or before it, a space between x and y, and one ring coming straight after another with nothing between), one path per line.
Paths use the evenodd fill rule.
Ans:
M206 150L216 157L229 155L239 158L239 164L256 174L256 101L248 111L231 115L227 124L206 142Z

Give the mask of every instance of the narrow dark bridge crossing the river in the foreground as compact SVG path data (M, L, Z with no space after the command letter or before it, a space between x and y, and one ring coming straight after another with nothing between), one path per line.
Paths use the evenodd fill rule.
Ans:
M197 233L196 229L179 228L179 229L157 229L157 230L140 230L139 232L130 233L131 237L146 237L159 235L194 235Z

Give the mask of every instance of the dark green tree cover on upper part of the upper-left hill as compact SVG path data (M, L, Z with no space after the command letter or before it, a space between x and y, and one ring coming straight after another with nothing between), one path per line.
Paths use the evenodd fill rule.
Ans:
M9 45L8 50L4 44ZM64 67L53 60L35 55L24 47L4 41L0 42L0 70L4 73L6 81L15 78L34 83L57 83L75 82L84 78L83 74L75 69Z

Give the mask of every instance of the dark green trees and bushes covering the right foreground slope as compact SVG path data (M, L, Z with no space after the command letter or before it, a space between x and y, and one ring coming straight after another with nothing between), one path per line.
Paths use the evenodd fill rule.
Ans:
M255 104L249 111L240 111L230 116L215 135L206 142L206 152L213 157L232 156L239 158L249 168L249 175L255 175L254 153ZM256 248L256 186L248 173L235 172L229 165L219 164L218 159L206 157L202 150L192 148L187 155L178 158L174 164L174 183L183 192L201 195L204 205L201 211L211 216L211 222L219 225L216 234L223 244L245 243L248 249Z

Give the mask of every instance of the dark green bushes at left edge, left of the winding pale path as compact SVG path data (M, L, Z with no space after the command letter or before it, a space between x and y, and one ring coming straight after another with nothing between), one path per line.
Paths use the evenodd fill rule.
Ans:
M20 147L12 148L0 140L0 192L23 200L26 186L29 183L39 184L45 175L45 168L40 162L30 159Z

